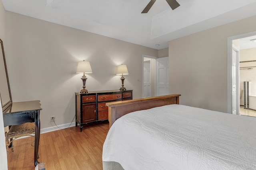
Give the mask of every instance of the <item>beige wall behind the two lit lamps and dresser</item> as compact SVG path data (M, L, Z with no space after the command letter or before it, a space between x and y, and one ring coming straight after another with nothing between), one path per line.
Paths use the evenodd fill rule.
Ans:
M124 86L142 98L142 55L157 56L158 50L96 35L86 31L6 12L6 62L14 102L40 100L41 128L70 123L75 115L75 92L82 88L78 61L90 61L89 91L121 87L115 75L126 64Z

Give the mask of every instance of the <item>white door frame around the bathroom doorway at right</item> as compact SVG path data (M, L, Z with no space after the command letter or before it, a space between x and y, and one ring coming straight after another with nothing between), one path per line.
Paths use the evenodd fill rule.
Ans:
M232 100L232 49L233 49L232 40L241 39L244 37L250 37L253 35L256 35L256 31L228 37L228 57L227 57L228 58L228 111L227 111L228 113L232 113L232 106L233 106L232 104L232 101L233 101ZM236 69L237 69L236 71L238 72L239 67L237 66ZM236 76L239 76L239 74ZM237 77L237 79L239 81L239 77ZM236 98L239 98L239 92L238 93L236 92ZM236 104L238 106L239 100L236 101Z

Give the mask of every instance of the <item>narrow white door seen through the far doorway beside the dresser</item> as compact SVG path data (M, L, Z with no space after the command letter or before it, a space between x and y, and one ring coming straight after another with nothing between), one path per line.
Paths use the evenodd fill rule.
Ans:
M143 98L151 97L151 59L144 61Z

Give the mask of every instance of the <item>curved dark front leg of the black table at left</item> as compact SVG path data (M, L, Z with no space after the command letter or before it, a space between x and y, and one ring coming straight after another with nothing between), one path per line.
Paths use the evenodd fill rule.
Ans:
M35 132L35 151L34 151L34 163L35 166L39 164L37 157L38 157L38 149L39 149L39 139L40 139L40 111L36 111L35 113L35 125L36 125L36 132Z

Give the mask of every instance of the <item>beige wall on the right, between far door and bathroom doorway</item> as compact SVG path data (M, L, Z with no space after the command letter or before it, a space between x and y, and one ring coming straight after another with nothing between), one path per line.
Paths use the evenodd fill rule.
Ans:
M180 104L227 112L227 38L256 30L256 16L169 42L169 92Z

